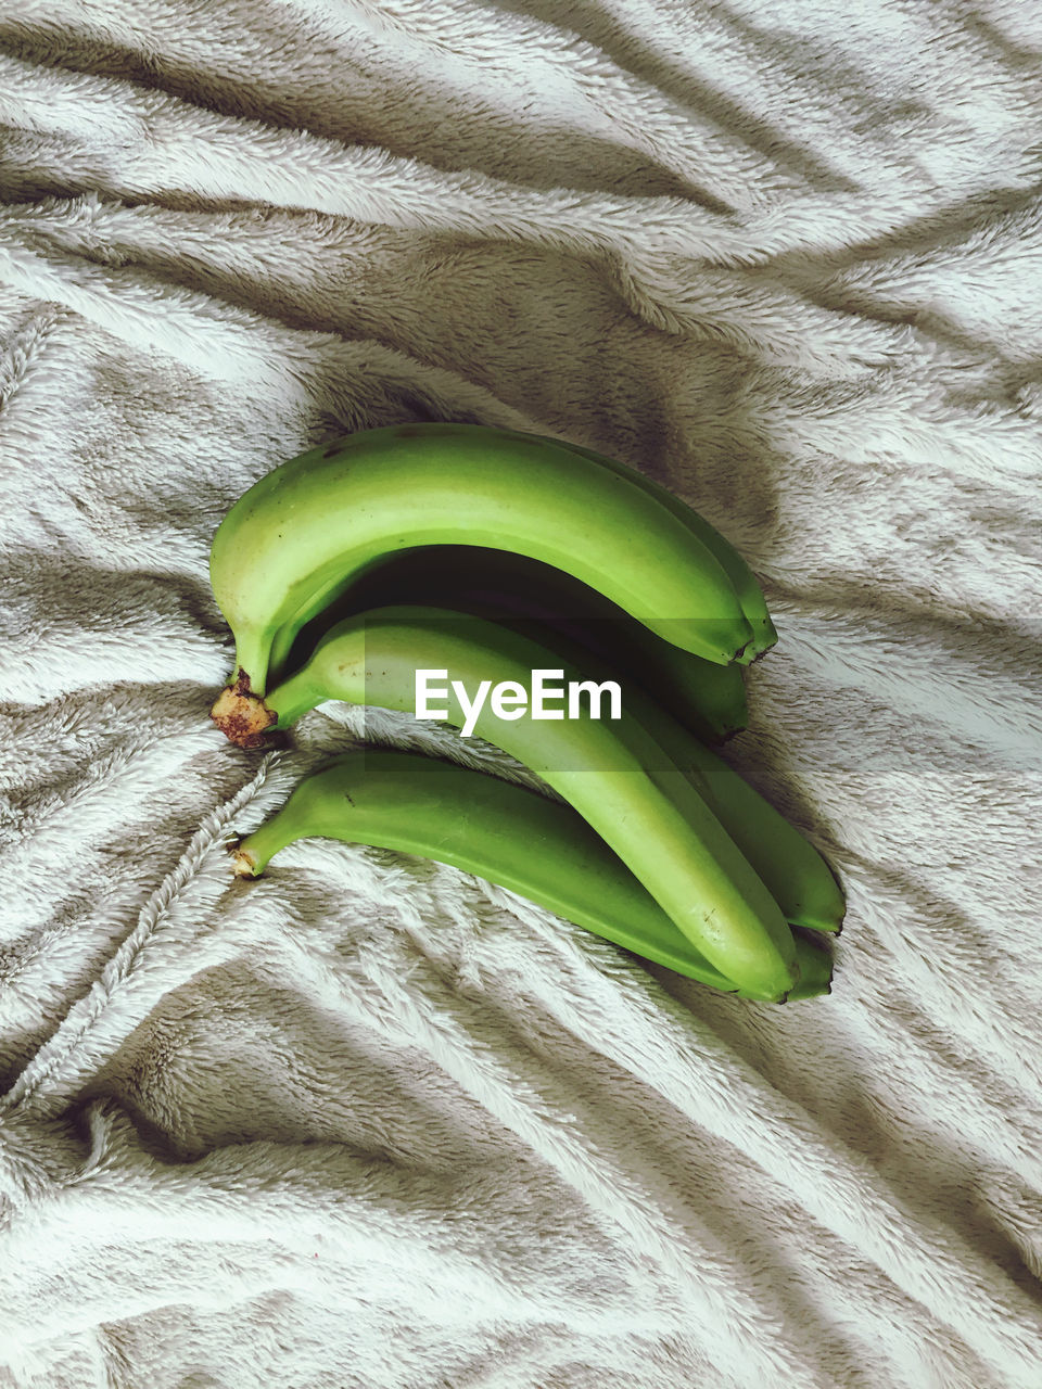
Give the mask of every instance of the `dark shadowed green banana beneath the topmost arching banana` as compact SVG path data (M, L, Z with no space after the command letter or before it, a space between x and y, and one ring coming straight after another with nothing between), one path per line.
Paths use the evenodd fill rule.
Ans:
M738 665L718 665L660 640L603 594L549 564L467 544L399 550L372 564L339 600L295 632L286 669L303 664L335 622L397 603L429 603L492 619L540 621L547 632L560 632L609 658L620 675L635 679L709 742L721 742L747 724ZM582 664L578 656L574 664Z

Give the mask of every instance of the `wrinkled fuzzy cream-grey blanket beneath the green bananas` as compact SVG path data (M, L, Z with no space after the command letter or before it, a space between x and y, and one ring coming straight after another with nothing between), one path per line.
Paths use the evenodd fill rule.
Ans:
M1042 1385L1041 64L1018 0L0 0L0 1385ZM831 997L231 881L361 714L211 726L213 532L422 418L749 558Z

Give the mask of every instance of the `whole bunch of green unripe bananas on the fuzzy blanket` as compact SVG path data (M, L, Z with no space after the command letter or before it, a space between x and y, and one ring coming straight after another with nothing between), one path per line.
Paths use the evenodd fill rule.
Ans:
M561 797L349 753L242 840L238 872L306 835L378 845L521 892L714 989L828 992L829 956L800 931L839 931L839 885L706 746L745 726L742 665L777 632L741 556L664 488L540 435L371 429L250 488L210 574L236 640L213 718L233 742L263 746L331 699L413 711L417 672L447 672L446 721ZM464 703L467 685L524 692L535 671L614 681L620 717Z

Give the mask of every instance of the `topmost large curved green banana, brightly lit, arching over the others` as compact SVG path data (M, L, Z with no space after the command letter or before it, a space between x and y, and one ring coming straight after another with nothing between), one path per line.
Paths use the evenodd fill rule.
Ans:
M210 582L235 685L263 694L279 628L303 626L379 556L456 542L545 560L721 665L753 636L713 551L628 476L535 435L392 425L290 458L218 526Z

